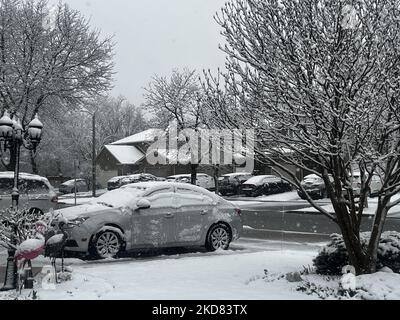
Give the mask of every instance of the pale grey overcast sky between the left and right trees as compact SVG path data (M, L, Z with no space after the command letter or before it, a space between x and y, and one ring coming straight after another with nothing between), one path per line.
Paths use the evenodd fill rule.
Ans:
M51 0L50 3L57 3ZM225 0L64 0L90 18L103 35L114 35L112 94L143 102L143 87L154 74L173 68L199 72L224 65L223 41L214 14Z

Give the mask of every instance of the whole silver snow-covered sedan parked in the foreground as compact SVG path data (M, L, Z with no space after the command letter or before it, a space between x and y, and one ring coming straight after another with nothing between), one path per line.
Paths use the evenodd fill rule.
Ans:
M139 182L88 204L54 212L52 225L67 222L65 250L97 258L162 247L227 249L243 229L240 210L190 184Z

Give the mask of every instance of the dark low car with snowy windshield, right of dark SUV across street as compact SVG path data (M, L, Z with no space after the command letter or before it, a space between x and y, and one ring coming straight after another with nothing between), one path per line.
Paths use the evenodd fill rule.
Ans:
M242 184L242 192L248 197L258 197L292 190L289 182L274 175L254 176Z

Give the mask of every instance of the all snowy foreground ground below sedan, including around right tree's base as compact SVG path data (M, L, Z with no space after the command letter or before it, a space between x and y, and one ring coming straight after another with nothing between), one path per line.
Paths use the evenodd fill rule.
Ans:
M71 280L55 289L43 288L38 275L35 289L37 298L43 300L336 299L339 277L306 274L300 282L286 279L290 272L310 268L320 245L244 239L232 244L231 250L214 253L67 259L73 270ZM357 277L355 284L353 299L400 299L399 274L364 275ZM20 298L29 299L31 294L24 290ZM14 298L15 292L0 293L0 300Z

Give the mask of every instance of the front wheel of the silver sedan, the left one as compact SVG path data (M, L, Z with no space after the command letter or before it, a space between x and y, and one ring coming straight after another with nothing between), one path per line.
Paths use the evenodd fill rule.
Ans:
M101 231L96 234L90 246L90 255L98 258L114 258L122 249L121 236L111 230Z

